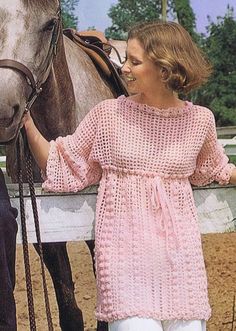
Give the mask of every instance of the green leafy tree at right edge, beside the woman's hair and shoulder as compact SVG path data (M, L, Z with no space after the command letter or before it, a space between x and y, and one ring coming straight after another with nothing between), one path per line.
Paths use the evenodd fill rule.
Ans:
M195 93L195 101L211 108L218 126L236 125L236 21L232 8L208 26L202 40L214 72L209 82Z

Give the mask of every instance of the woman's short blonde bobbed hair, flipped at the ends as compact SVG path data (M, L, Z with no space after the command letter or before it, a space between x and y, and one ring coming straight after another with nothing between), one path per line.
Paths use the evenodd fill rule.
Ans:
M129 39L137 39L149 59L163 68L164 81L173 91L188 93L204 84L211 74L210 63L178 23L139 23L129 31Z

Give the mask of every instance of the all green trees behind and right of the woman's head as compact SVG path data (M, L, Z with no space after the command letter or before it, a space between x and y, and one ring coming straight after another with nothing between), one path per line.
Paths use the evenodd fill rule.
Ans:
M236 21L232 8L216 23L209 23L207 36L196 32L196 18L190 0L168 0L168 17L178 20L193 40L203 48L214 72L209 82L191 93L193 102L213 110L217 125L236 125ZM108 38L126 39L132 25L161 18L161 0L119 0L108 13L112 25Z

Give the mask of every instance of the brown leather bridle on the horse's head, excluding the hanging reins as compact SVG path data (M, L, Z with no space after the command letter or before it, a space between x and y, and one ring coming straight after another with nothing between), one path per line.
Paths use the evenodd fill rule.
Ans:
M49 51L43 62L43 68L41 70L41 74L37 78L37 81L35 80L30 69L26 67L23 63L11 59L0 60L0 68L8 68L20 72L25 77L27 84L31 87L32 91L30 93L28 100L26 101L25 111L23 115L31 109L35 100L42 92L42 85L45 83L45 81L48 78L48 75L52 67L53 58L57 53L57 43L60 34L60 25L61 25L61 10L58 9L57 20L53 27Z

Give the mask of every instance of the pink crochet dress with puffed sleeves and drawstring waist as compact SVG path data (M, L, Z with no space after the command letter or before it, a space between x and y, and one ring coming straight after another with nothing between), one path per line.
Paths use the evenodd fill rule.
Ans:
M45 189L75 192L100 182L99 320L210 317L191 183L227 184L233 167L213 114L190 102L163 110L124 96L106 100L73 135L51 142Z

